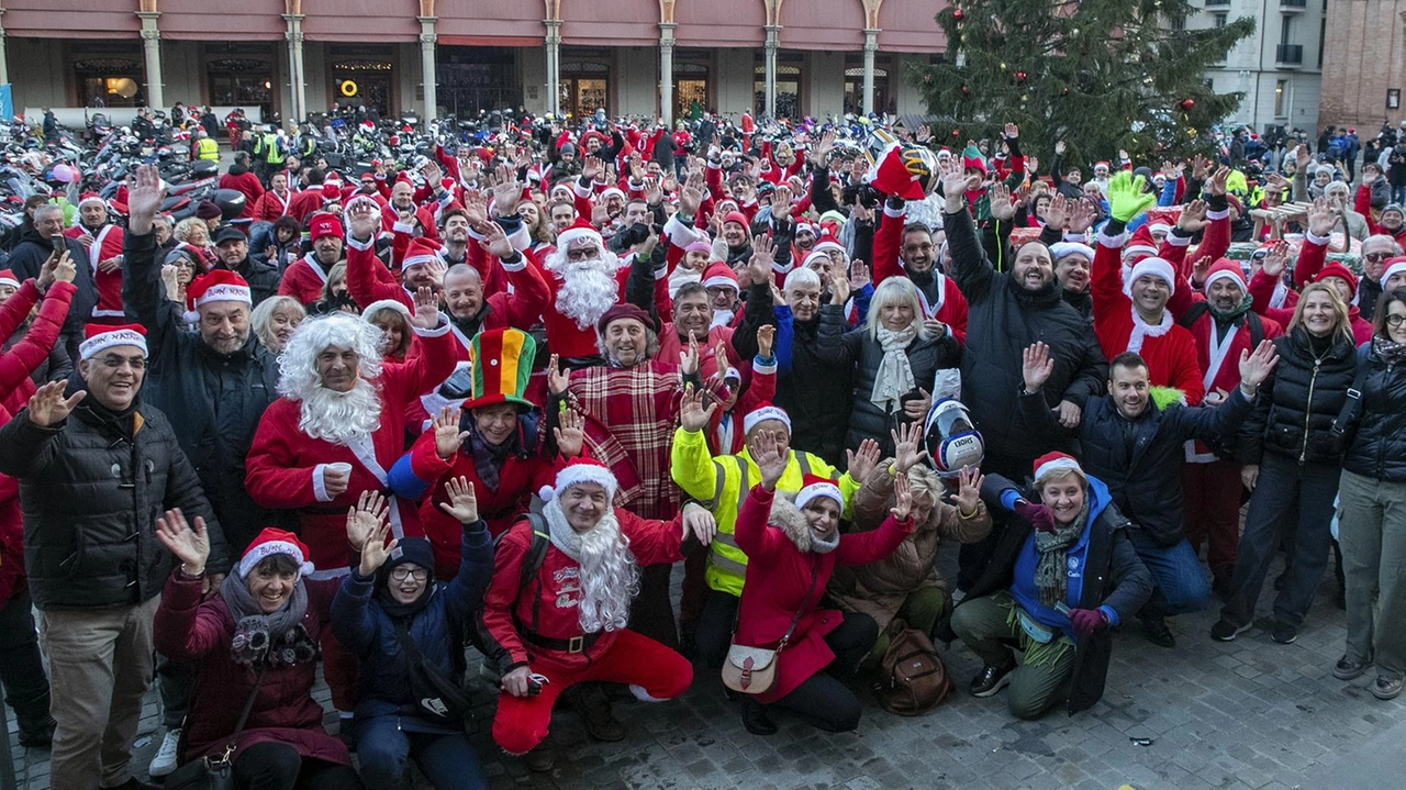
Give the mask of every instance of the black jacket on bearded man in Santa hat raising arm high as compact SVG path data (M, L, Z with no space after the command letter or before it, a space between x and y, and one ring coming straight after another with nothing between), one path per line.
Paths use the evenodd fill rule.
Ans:
M1010 273L997 274L987 261L966 209L943 214L952 277L967 299L966 347L962 351L962 402L972 409L986 457L995 471L1029 474L1031 462L1049 451L1029 441L1012 420L1021 389L1021 356L1043 340L1054 374L1040 391L1049 408L1060 401L1083 406L1104 391L1108 361L1094 325L1062 298L1059 283L1031 292Z

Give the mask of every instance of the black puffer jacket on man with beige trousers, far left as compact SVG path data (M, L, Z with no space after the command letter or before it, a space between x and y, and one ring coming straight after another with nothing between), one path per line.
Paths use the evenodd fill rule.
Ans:
M70 392L82 389L77 375ZM69 419L39 427L30 410L0 429L0 472L20 479L24 566L34 604L103 609L160 595L174 558L156 540L156 519L180 507L205 519L208 568L229 569L229 552L190 461L166 416L136 410L128 439L79 403Z

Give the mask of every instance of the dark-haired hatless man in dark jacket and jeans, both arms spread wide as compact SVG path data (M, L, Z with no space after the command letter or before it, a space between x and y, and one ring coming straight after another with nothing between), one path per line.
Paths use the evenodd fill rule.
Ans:
M1159 403L1149 387L1147 363L1135 353L1119 354L1108 365L1108 395L1090 398L1084 419L1071 432L1080 443L1080 461L1088 474L1108 485L1118 509L1133 526L1128 531L1143 565L1157 583L1139 611L1147 640L1174 647L1167 617L1202 609L1211 597L1197 550L1187 543L1181 507L1181 464L1185 443L1197 439L1223 444L1250 413L1256 388L1274 370L1274 343L1263 342L1254 354L1240 357L1240 387L1219 408L1184 408ZM1022 373L1021 422L1045 443L1066 439L1045 406L1040 388L1052 371L1049 347L1026 350Z

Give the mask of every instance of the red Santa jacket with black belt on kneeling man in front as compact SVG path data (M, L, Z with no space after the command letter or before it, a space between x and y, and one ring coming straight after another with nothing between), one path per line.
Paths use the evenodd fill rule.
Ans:
M641 519L614 507L620 534L630 538L630 552L640 565L678 562L683 558L683 516L672 520ZM531 628L548 640L583 637L581 628L581 564L555 545L547 547L537 575L522 585L523 557L531 547L531 523L517 522L498 541L494 552L494 581L484 593L478 634L485 652L506 675L517 666L554 666L579 671L605 655L616 631L602 631L595 644L581 652L540 648L526 642L519 627Z

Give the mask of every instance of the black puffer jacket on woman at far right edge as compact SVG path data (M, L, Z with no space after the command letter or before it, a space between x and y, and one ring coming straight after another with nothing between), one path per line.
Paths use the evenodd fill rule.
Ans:
M1358 351L1362 413L1343 458L1354 475L1406 482L1406 365L1391 365L1371 346Z

